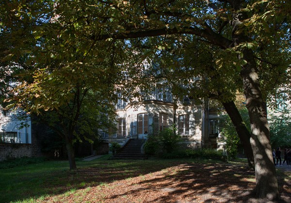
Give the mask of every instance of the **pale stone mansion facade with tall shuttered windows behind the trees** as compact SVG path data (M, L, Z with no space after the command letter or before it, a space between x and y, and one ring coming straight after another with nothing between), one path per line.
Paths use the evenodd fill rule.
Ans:
M179 102L169 91L157 89L137 104L118 100L116 114L116 130L109 130L109 143L124 145L129 139L146 139L175 125L181 148L223 148L218 142L218 115L210 115L208 101L195 104L185 97Z

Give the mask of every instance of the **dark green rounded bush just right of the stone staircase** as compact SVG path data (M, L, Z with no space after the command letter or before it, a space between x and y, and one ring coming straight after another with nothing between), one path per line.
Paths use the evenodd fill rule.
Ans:
M171 153L178 147L180 137L176 134L175 126L159 131L158 135L149 135L145 144L147 155L158 155L161 151Z

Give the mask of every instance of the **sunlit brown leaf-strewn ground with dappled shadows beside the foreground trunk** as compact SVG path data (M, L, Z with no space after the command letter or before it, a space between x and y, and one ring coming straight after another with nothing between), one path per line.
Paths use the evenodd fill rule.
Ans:
M150 167L149 167L150 168ZM94 176L97 168L82 174ZM285 171L286 172L286 171ZM113 180L113 174L116 180ZM124 175L124 178L118 177ZM290 176L289 176L290 177ZM112 170L99 177L104 184L84 187L67 195L49 197L43 202L90 203L258 203L251 191L255 187L254 172L231 164L181 163L160 171L140 175ZM291 180L279 179L281 200L291 203Z

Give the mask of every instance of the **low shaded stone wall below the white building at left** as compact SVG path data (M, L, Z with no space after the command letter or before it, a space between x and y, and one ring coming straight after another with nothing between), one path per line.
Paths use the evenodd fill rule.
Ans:
M32 144L5 143L0 144L0 161L11 158L40 156L39 149Z

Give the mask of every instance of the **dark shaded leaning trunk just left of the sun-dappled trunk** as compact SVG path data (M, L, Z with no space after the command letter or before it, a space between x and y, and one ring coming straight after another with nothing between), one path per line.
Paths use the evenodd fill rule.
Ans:
M233 101L222 102L222 104L226 109L226 112L229 115L233 125L235 126L238 136L242 142L242 146L247 157L249 167L255 169L254 155L250 143L251 135L242 120L242 116L239 110L237 109Z

